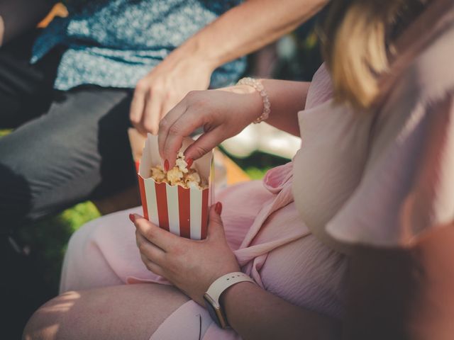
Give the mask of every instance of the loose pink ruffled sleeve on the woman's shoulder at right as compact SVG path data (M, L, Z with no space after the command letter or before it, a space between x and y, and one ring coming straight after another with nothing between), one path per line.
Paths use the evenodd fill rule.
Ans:
M362 180L326 225L342 247L409 247L454 222L454 96L399 104L379 115Z

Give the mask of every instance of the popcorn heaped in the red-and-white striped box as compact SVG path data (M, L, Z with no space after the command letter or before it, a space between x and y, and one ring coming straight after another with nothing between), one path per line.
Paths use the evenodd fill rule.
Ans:
M187 169L187 162L184 161L184 154L178 152L175 166L165 172L162 166L152 166L151 178L157 183L168 183L170 186L182 186L183 188L208 188L206 181L203 181L196 169Z

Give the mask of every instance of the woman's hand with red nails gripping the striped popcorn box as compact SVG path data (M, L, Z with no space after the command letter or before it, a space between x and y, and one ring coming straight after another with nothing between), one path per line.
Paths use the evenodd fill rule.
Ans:
M140 215L130 215L140 256L148 270L167 278L200 305L204 305L204 293L216 278L240 271L226 242L221 210L221 203L211 206L208 236L201 241L178 237Z

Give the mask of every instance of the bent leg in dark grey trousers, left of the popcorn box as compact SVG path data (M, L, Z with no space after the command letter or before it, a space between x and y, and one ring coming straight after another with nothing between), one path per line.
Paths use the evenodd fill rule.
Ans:
M62 93L48 113L0 139L0 217L37 220L135 183L126 90Z

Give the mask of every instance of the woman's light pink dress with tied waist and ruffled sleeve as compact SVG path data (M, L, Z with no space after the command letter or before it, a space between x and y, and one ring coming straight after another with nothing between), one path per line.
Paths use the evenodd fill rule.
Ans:
M442 28L373 113L334 105L322 66L299 113L302 147L294 160L263 181L218 195L228 244L260 287L342 318L349 246L408 246L428 229L453 222L454 67L447 57L454 53L453 22ZM101 217L73 235L61 292L168 284L140 261L129 212L142 211ZM193 301L150 339L199 339L199 315L201 339L240 339Z

